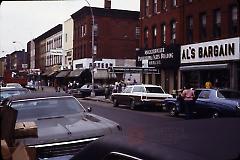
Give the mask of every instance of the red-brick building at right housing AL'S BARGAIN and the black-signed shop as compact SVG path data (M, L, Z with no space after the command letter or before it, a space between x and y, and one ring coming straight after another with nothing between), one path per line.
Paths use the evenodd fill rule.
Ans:
M159 74L146 75L145 83L160 84L170 93L187 84L203 87L207 80L220 81L219 87L239 88L237 0L141 0L140 9L138 65L159 69ZM234 56L217 58L213 55L197 59L193 58L197 52L188 50L194 47L197 50L200 46L204 49L205 46L207 50L210 48L211 54L210 45L219 48L231 45L224 48L224 55ZM227 52L229 48L234 52ZM192 58L189 58L190 53ZM215 74L216 70L218 74Z

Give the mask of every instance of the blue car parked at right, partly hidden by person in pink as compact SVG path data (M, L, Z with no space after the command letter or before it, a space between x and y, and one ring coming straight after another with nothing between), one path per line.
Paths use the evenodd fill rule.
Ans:
M165 104L171 116L185 113L181 97L168 98ZM230 89L196 89L192 112L212 118L240 115L240 92Z

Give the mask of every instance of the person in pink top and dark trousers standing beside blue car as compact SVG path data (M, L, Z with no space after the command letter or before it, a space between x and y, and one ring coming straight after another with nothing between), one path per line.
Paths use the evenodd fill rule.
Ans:
M181 97L183 98L186 119L191 119L192 118L192 107L194 105L194 97L195 97L194 90L190 89L190 87L186 87L183 90Z

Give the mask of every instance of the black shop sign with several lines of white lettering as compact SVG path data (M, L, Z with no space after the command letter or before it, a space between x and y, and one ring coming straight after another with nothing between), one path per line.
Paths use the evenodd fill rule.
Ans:
M148 61L149 67L178 67L180 64L179 45L162 46L151 50L140 50L137 55L137 63Z

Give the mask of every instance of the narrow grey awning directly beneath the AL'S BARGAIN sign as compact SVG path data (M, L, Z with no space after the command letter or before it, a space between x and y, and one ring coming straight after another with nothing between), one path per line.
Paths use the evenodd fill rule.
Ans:
M209 69L227 69L228 64L209 64L209 65L192 65L181 66L180 71L192 71L192 70L209 70Z

